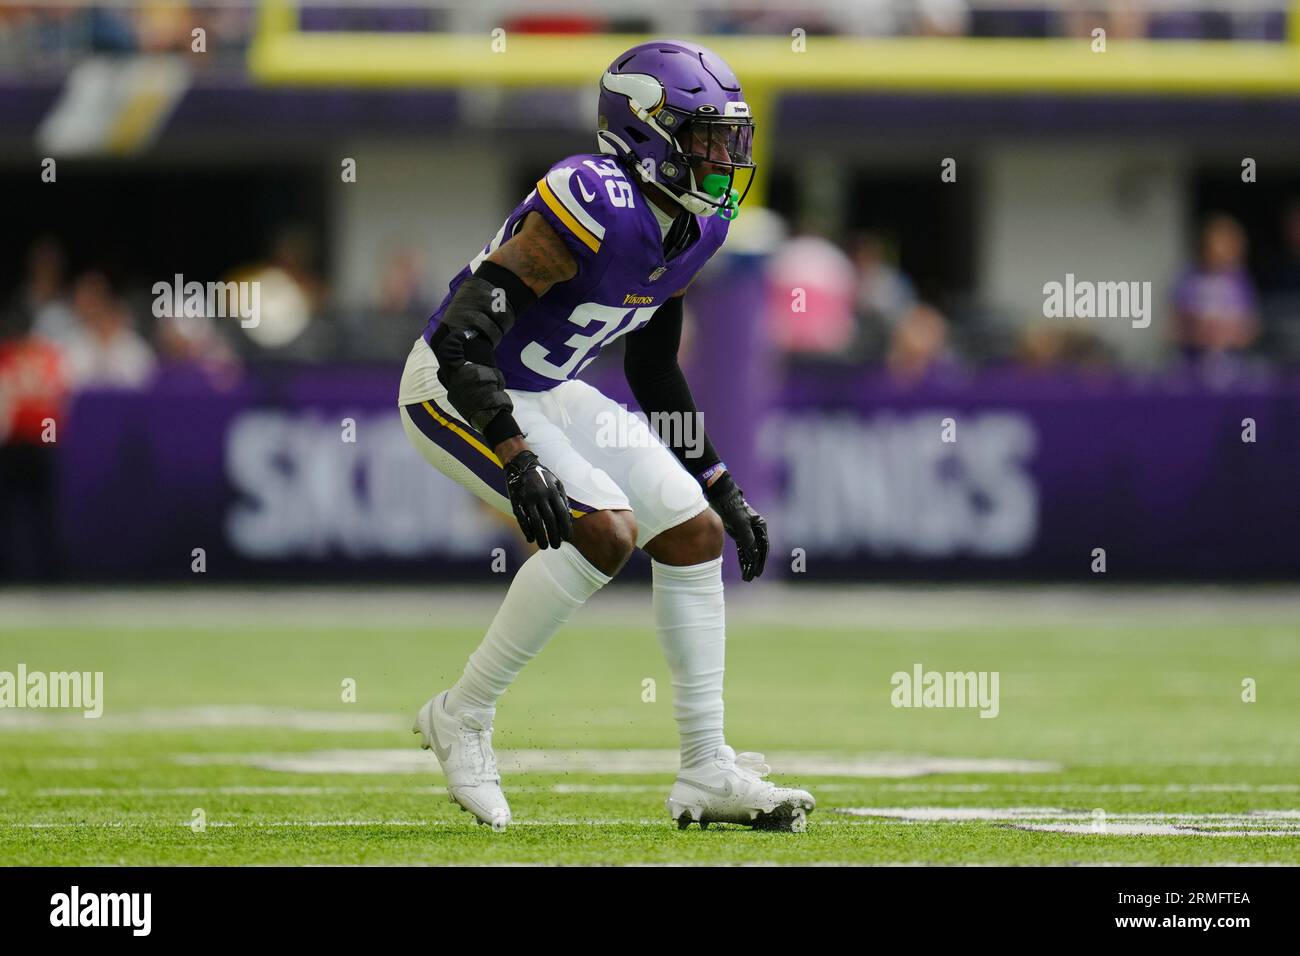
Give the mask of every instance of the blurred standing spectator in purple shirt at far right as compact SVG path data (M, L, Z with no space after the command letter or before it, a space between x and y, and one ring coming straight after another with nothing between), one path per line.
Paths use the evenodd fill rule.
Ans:
M1187 356L1239 351L1260 333L1254 286L1245 271L1247 239L1222 213L1201 232L1200 261L1174 286L1174 336Z

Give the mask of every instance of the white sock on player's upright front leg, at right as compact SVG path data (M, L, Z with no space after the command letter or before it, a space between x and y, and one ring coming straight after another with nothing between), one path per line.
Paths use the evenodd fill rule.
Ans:
M681 735L681 766L705 762L723 736L727 623L723 559L673 567L650 562L654 623L672 672L672 715Z

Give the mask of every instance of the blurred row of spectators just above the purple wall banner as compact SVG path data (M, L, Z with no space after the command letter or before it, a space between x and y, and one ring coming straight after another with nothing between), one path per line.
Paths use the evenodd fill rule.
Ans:
M1300 359L1300 199L1278 209L1274 230L1256 237L1268 254L1252 255L1252 237L1232 215L1214 212L1197 225L1167 300L1152 303L1167 316L1157 333L1166 338L1160 363L1195 368L1199 359L1239 356L1286 367ZM40 235L6 290L0 341L42 343L42 360L62 367L69 390L146 388L168 364L194 365L220 385L244 362L403 359L454 269L439 273L421 250L395 248L372 276L373 294L341 306L317 246L309 229L290 224L263 260L239 271L264 289L285 289L274 300L285 307L266 313L266 326L244 329L237 319L155 316L152 284L94 260L69 261L61 237ZM902 251L896 234L874 229L805 229L777 239L763 273L764 328L785 362L880 369L901 381L961 365L1119 362L1086 321L998 321L994 308L972 303L970 289L923 291L900 264Z

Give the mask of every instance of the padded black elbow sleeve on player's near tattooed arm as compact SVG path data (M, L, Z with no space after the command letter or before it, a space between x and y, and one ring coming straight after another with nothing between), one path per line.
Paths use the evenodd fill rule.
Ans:
M519 313L536 300L524 281L504 265L480 263L458 286L429 337L447 399L490 447L521 433L494 351Z

